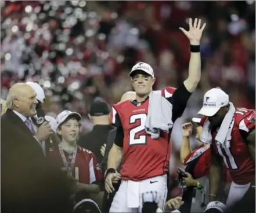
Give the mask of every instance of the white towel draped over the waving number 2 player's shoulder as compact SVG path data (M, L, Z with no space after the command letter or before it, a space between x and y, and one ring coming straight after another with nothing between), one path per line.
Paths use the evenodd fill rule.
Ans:
M169 133L172 128L172 104L161 95L161 91L152 91L149 94L149 108L145 122L145 130L152 139L160 136L160 130Z

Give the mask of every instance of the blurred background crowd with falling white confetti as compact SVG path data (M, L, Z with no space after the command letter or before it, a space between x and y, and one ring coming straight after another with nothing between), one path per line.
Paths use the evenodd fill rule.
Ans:
M154 89L186 78L189 42L179 27L189 17L207 23L202 76L172 131L172 167L181 124L196 115L205 91L219 86L236 107L255 108L254 1L1 1L1 98L33 80L45 89L49 115L79 112L89 131L93 98L119 101L132 90L128 72L137 61L154 68Z

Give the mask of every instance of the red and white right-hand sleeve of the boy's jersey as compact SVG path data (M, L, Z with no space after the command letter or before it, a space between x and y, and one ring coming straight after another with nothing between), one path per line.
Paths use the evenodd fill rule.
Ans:
M103 172L99 167L99 164L95 155L92 152L90 153L90 155L91 155L91 160L89 162L90 184L99 183L99 181L103 179Z

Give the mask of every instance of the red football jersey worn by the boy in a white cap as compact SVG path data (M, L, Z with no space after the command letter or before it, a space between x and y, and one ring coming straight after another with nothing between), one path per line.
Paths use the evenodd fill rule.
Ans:
M56 157L57 163L59 164L60 168L65 169L62 156L60 155L58 147L53 148L49 152L49 155L51 157ZM70 155L64 151L64 155L66 157L67 163L70 164L73 154ZM75 177L77 175L78 177ZM100 170L97 159L91 151L78 146L77 156L75 157L75 164L72 169L72 176L79 179L80 183L86 184L91 184L93 182L97 182L103 179L102 170Z

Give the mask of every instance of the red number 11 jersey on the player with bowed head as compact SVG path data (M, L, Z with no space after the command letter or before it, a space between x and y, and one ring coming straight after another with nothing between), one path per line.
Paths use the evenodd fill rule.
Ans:
M255 111L237 108L235 123L232 128L230 148L219 148L215 143L217 131L212 133L214 150L223 159L232 180L240 185L253 181L255 177L255 162L251 158L246 137L255 128Z

